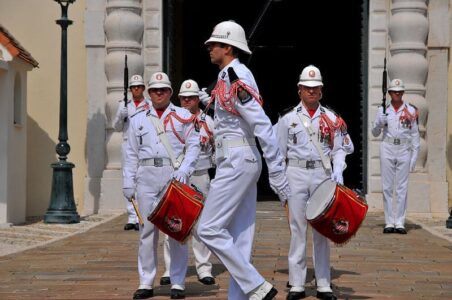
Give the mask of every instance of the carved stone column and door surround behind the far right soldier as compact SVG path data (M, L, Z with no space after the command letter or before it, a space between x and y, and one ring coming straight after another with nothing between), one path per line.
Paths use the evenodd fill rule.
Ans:
M382 65L386 52L389 79L401 78L406 87L404 100L419 109L421 148L416 170L409 178L408 215L447 216L445 150L449 13L448 0L369 2L369 155L366 198L371 209L383 209L379 163L381 137L373 138L370 128L376 110L381 105Z

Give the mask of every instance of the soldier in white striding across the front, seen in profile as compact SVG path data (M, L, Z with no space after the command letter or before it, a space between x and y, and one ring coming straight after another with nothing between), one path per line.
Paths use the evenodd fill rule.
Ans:
M203 103L215 101L217 169L199 220L198 235L231 275L228 299L273 299L277 290L250 262L257 181L262 169L255 137L268 165L270 185L283 202L290 195L284 159L261 106L253 74L237 58L239 51L251 53L243 28L233 21L219 23L205 44L211 62L220 68L212 98L204 89L200 92Z

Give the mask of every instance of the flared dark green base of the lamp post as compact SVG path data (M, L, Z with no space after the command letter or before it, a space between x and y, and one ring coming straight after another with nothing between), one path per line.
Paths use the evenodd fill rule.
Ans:
M50 205L44 216L44 223L80 223L80 216L74 201L72 189L72 168L74 164L66 161L53 163L52 194Z

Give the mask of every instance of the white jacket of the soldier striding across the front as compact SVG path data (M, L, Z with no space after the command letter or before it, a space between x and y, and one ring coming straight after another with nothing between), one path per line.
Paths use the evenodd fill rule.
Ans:
M226 83L226 93L229 92L230 82L227 69L234 68L239 79L259 93L256 81L251 71L236 58L225 66L218 74L218 81ZM284 169L283 157L279 151L276 136L270 119L262 106L253 98L242 103L237 97L234 99L235 110L239 115L226 111L215 99L214 136L217 139L237 139L257 137L264 153L269 173Z

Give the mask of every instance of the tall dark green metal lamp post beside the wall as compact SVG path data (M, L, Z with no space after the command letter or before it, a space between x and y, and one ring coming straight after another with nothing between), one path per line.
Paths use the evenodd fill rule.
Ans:
M44 216L45 223L79 223L74 201L72 184L72 168L75 165L67 162L71 147L67 143L67 28L72 21L67 18L69 4L75 0L55 0L61 6L61 19L56 23L61 26L61 74L60 74L60 127L55 150L58 162L52 163L52 192L50 205Z

